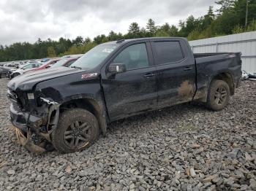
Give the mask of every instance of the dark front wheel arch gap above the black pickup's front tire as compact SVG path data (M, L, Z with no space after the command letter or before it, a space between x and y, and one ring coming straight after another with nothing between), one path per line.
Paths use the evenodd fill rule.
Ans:
M104 117L104 112L101 109L101 106L95 101L94 99L91 98L79 98L75 99L72 101L67 101L64 104L61 104L60 112L64 112L67 109L72 109L72 108L81 108L81 109L86 109L94 116L97 118L99 122L99 128L102 132L103 135L106 133L107 129L107 123Z

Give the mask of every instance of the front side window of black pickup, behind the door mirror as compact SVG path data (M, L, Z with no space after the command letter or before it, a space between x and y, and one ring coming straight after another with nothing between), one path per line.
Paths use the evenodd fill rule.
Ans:
M142 69L149 66L146 44L133 44L120 52L113 63L124 63L127 70Z

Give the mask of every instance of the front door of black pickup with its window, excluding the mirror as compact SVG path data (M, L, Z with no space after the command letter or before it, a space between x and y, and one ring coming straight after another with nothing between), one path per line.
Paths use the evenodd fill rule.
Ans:
M123 73L102 71L102 87L110 120L145 112L157 106L156 67L149 42L129 43L110 63L123 63ZM110 64L109 63L109 64Z

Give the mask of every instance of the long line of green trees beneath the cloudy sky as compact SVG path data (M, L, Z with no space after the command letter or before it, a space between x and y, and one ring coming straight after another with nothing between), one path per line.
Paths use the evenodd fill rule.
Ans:
M10 45L0 46L0 61L15 61L23 59L54 57L56 55L70 55L84 53L97 44L115 41L117 39L130 39L148 36L184 36L189 40L203 39L225 34L241 33L243 31L256 31L256 1L248 0L248 25L244 27L246 18L247 0L217 0L218 14L214 15L213 7L208 7L206 15L187 17L180 20L178 27L165 23L156 26L152 19L148 19L146 28L140 28L138 23L131 23L127 34L110 31L106 36L99 34L94 39L83 39L77 36L75 39L59 38L37 39L34 43L16 42Z

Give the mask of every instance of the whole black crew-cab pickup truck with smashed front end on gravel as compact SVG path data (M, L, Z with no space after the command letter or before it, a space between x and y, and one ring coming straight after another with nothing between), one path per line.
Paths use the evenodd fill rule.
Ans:
M12 79L10 116L20 144L76 152L105 135L107 124L175 104L223 109L241 77L241 53L193 54L187 39L107 42L67 67Z

